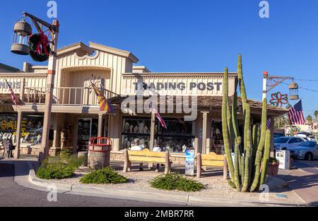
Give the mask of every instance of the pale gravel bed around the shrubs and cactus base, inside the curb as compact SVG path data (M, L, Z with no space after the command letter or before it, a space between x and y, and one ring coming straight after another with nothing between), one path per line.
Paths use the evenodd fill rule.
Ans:
M153 178L157 177L162 173L154 172L153 170L146 169L145 171L136 171L129 173L122 173L118 171L119 174L122 174L124 177L129 179L129 183L127 184L81 184L80 179L83 175L88 173L88 168L81 167L75 173L75 175L70 179L62 179L62 180L52 180L59 184L81 184L88 186L98 186L98 187L111 187L118 189L130 189L136 191L155 191L155 192L165 192L165 193L177 193L182 195L191 195L191 196L201 196L207 198L217 198L217 199L233 199L240 201L260 201L261 196L264 194L260 193L238 193L234 189L231 189L228 185L227 181L223 180L222 176L212 176L212 177L203 177L200 179L197 178L189 178L194 179L196 181L204 184L205 189L199 192L186 193L182 191L165 191L160 189L154 189L149 184ZM269 178L271 179L271 178ZM277 195L279 194L279 196ZM273 189L270 187L269 192L269 202L270 203L303 203L303 201L295 194L294 191L284 188L284 189Z

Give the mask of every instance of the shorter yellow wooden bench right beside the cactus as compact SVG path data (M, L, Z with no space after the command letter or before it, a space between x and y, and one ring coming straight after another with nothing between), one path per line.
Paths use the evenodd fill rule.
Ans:
M209 153L207 155L196 155L196 177L201 177L201 167L223 167L223 179L228 179L228 162L225 155L216 155L216 153Z

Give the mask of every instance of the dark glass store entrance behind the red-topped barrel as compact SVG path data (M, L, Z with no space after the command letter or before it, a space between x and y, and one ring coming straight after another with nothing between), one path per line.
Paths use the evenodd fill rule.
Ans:
M87 151L90 138L98 136L98 119L78 119L77 149Z

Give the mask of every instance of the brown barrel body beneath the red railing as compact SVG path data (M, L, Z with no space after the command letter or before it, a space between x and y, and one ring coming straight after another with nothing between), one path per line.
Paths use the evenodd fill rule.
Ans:
M110 151L90 151L88 165L93 169L110 166Z

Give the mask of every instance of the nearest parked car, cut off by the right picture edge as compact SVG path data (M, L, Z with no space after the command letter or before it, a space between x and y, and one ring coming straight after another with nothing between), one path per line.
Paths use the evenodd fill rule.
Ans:
M318 145L314 141L306 141L295 148L288 148L293 158L300 160L318 159Z

